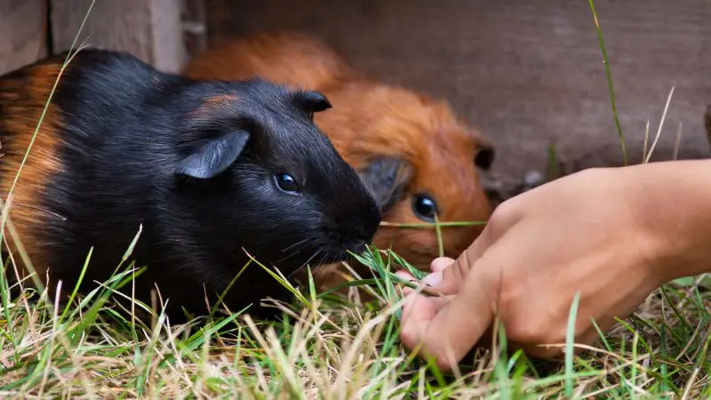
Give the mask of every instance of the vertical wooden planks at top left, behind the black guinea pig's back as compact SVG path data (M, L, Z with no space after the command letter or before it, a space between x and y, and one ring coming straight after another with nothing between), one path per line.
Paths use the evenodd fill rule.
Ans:
M202 0L0 0L0 74L76 45L178 71L204 45ZM202 28L202 29L201 29Z

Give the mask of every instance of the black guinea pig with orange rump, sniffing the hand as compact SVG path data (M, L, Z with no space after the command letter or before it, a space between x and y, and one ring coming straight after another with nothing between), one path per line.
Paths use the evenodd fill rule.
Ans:
M323 94L198 82L123 52L76 53L12 188L64 60L0 78L0 189L4 201L12 189L10 221L51 299L59 280L73 290L92 247L80 291L106 282L140 227L135 297L150 305L157 287L172 322L181 308L206 314L249 255L289 276L371 242L375 200L313 124L331 107ZM259 315L260 299L286 294L252 262L223 301Z

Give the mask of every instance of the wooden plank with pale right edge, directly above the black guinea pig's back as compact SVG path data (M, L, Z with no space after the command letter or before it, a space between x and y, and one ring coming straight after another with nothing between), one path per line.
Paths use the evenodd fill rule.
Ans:
M92 0L52 0L55 52L71 47ZM185 62L180 16L183 0L96 0L77 44L131 52L156 68L177 71Z

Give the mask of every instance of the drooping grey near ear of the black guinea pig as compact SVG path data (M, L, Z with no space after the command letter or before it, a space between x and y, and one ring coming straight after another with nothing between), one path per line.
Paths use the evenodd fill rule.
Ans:
M197 148L193 154L180 160L175 166L175 174L210 179L235 162L249 138L249 132L239 130L210 140L203 148Z

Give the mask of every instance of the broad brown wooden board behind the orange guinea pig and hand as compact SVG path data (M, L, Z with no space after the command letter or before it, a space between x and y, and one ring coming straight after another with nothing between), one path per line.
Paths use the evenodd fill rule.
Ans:
M451 100L497 145L494 171L520 179L543 169L555 140L567 172L621 163L595 24L586 1L212 0L211 43L270 29L323 38L351 64L392 84ZM711 102L711 2L597 0L630 162L644 126L652 160L707 157Z

